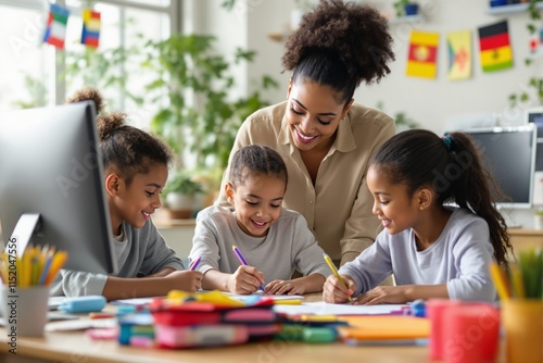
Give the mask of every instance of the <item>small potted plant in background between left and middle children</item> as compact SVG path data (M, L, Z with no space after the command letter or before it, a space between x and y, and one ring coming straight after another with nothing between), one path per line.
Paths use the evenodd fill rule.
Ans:
M190 218L194 213L197 196L203 193L203 185L187 173L177 172L164 188L165 204L171 218Z

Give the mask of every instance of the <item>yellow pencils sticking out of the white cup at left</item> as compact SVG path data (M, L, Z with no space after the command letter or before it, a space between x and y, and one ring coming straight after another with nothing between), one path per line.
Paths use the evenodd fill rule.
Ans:
M21 256L2 252L0 277L10 287L49 286L66 262L66 251L28 245Z

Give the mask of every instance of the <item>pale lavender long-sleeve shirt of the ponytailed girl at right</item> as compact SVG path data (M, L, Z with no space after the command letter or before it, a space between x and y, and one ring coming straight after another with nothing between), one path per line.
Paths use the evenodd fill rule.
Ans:
M417 251L411 228L396 235L383 230L339 272L356 281L356 295L393 273L396 285L446 283L451 299L493 301L496 292L489 272L493 254L487 222L456 208L441 236L426 250Z

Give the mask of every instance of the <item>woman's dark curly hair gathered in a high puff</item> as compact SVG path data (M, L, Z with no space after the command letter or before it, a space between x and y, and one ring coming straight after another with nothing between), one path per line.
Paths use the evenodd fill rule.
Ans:
M281 59L293 82L308 78L337 90L349 102L356 87L379 80L394 61L388 21L356 2L321 0L287 41Z

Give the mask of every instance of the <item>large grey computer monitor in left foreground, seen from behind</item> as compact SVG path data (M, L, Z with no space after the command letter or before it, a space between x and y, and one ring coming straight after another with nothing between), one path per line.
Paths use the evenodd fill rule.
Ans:
M115 271L92 102L0 114L0 223L4 246L27 234L67 251L64 268Z

